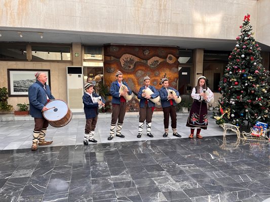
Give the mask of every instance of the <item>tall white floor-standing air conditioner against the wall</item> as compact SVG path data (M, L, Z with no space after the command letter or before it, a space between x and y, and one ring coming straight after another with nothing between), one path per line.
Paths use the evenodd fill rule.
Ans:
M84 112L84 75L82 66L66 67L67 103L71 112Z

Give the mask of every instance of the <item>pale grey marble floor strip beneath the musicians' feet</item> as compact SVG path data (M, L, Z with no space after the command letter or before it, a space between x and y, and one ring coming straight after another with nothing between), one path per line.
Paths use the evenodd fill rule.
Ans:
M161 112L162 113L162 112ZM177 115L177 129L178 133L183 138L187 138L190 134L190 129L185 126L187 115ZM95 129L94 138L98 143L106 142L127 142L127 141L145 141L153 139L176 139L172 136L171 124L169 125L169 135L167 138L162 137L164 133L163 114L155 114L152 118L151 132L153 138L146 135L146 126L144 125L143 134L140 139L138 134L138 120L137 115L127 114L124 120L122 134L125 138L114 137L112 140L107 140L110 130L110 115L100 114L97 126ZM72 119L69 124L61 128L48 127L46 139L53 140L50 146L64 146L64 145L81 145L83 144L85 117L80 116L78 119ZM18 149L30 148L32 144L32 131L34 128L34 121L0 121L0 150L3 149ZM209 119L209 126L207 130L202 130L203 136L217 136L222 135L223 130L215 124L214 119Z

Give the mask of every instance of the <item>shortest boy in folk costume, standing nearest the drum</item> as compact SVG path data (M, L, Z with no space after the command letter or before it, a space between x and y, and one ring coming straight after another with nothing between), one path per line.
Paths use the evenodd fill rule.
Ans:
M98 118L98 106L105 106L105 100L100 97L98 94L93 93L94 85L92 83L87 83L85 85L85 93L83 96L84 103L84 111L86 117L86 125L85 125L85 137L84 144L88 144L88 141L96 143L97 140L93 138L95 134L95 128L97 124ZM100 100L96 103L94 97L99 97Z

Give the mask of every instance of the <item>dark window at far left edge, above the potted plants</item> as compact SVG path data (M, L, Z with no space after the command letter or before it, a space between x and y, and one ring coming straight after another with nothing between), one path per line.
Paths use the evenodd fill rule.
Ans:
M26 60L26 45L1 44L0 60Z

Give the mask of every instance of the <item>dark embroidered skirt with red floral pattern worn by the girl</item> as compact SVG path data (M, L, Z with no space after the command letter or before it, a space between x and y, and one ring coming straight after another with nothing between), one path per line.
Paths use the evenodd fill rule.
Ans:
M208 115L206 102L194 99L189 111L186 126L190 128L200 127L202 129L207 129Z

